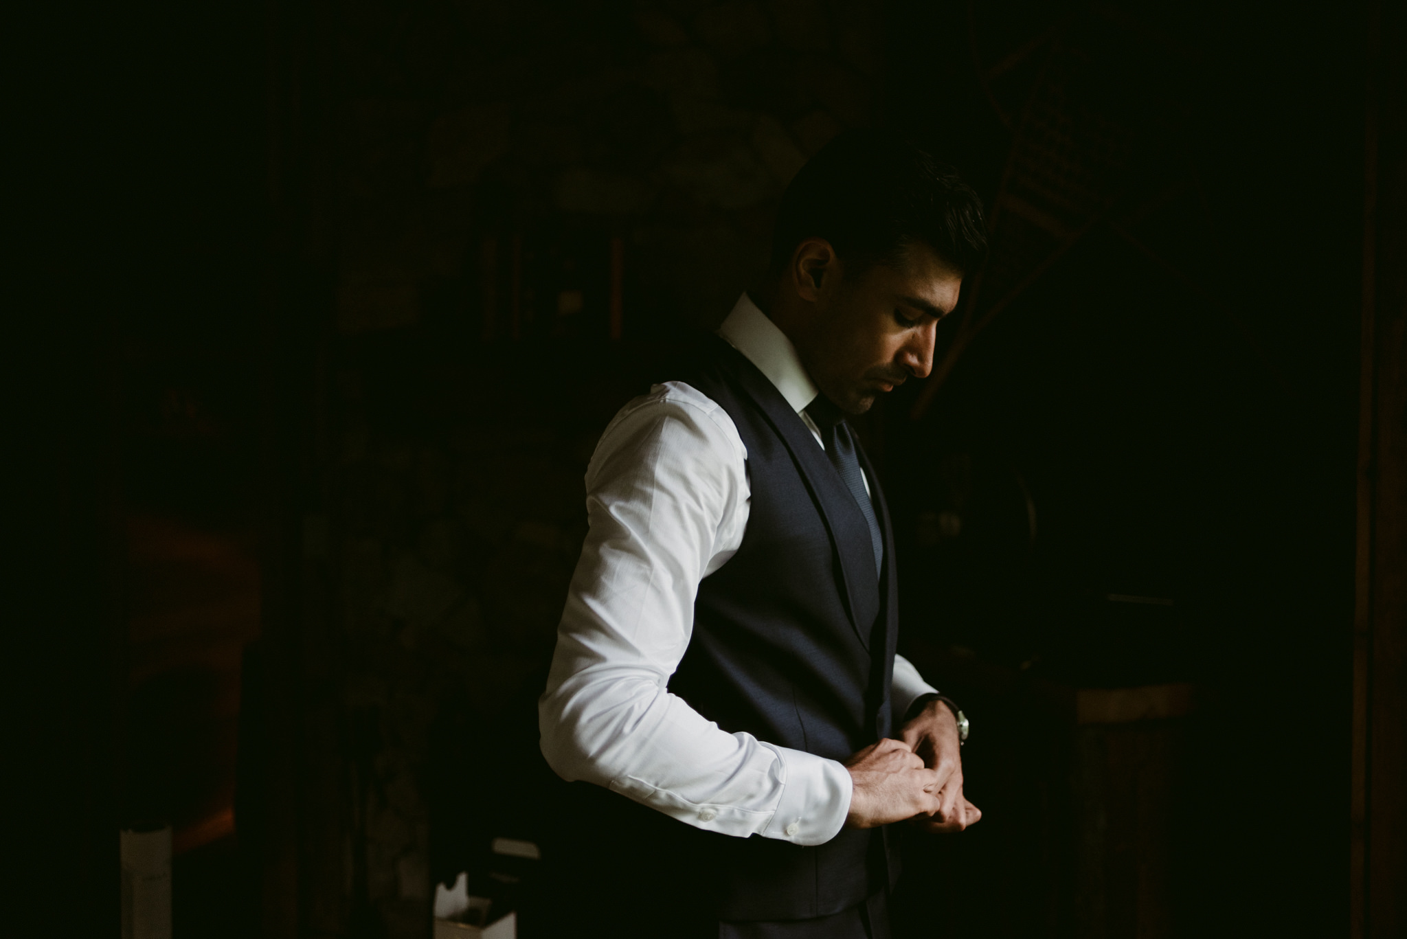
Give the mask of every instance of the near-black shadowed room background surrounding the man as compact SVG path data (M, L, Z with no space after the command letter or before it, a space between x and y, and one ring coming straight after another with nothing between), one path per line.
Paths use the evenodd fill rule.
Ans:
M591 448L758 273L796 166L889 125L993 221L938 373L861 427L903 642L969 710L986 811L910 845L905 928L1342 932L1365 86L1400 23L369 0L30 28L17 570L59 625L13 687L84 915L136 818L176 829L180 935L422 935L487 838L550 842L532 707ZM1144 842L1088 786L1114 743L1047 698L1162 683L1197 705L1138 738Z

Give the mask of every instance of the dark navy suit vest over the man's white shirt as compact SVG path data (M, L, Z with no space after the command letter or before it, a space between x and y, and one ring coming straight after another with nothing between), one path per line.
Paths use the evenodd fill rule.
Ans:
M875 472L857 441L884 531L878 576L854 497L757 366L711 336L708 352L670 377L733 418L751 490L743 543L699 584L694 634L670 691L730 733L844 760L891 732L896 584ZM892 887L899 874L889 829L846 828L802 847L706 832L605 790L575 788L585 798L568 812L595 836L573 852L573 867L592 878L598 900L656 928L667 919L822 916Z

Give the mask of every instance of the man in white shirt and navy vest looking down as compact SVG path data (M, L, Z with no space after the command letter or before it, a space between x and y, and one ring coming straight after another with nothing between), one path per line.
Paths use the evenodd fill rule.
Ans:
M613 793L575 812L611 819L580 855L601 935L886 939L884 826L981 818L965 719L895 655L891 519L844 418L929 373L983 249L930 156L836 138L765 283L597 445L539 721L559 776Z

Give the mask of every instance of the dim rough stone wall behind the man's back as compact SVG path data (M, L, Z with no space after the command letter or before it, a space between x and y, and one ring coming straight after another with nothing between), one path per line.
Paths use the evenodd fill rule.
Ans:
M533 835L515 798L585 463L671 336L761 270L806 156L870 120L875 6L342 10L308 542L338 584L355 931L426 933L432 845L443 866L452 838Z

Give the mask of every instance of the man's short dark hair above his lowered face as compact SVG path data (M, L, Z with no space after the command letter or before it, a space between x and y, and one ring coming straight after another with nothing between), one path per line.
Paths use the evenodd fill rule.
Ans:
M964 275L986 253L982 200L953 168L892 131L844 131L801 168L777 210L772 273L806 238L825 238L853 269L898 263L913 242Z

